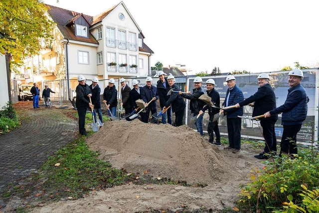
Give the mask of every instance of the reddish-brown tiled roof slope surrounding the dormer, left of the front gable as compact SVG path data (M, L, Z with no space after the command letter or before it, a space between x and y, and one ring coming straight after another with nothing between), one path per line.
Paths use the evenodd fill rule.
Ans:
M59 30L61 31L65 39L99 44L99 42L94 38L94 36L91 33L89 33L89 38L75 36L74 29L72 29L71 26L69 26L70 21L75 20L81 15L90 23L90 20L92 20L93 18L92 16L85 15L79 12L76 12L75 14L74 11L71 11L68 9L63 9L63 8L52 6L49 4L45 4L45 5L48 7L49 15L51 16L53 21L57 24L57 27L59 28Z

